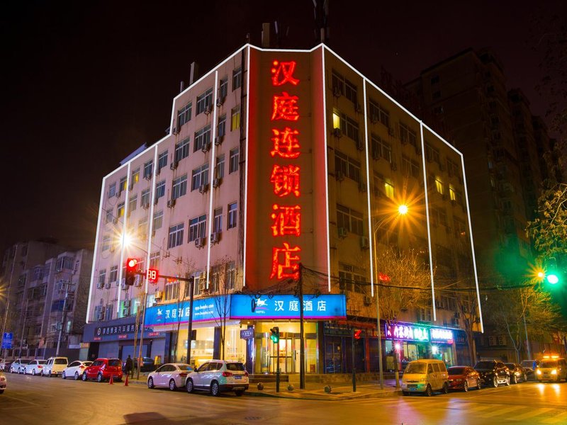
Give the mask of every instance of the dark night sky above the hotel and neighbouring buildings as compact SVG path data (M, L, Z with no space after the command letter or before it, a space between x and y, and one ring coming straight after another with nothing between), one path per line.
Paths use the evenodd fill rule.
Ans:
M544 114L532 46L567 2L357 3L331 1L328 44L366 77L378 82L383 67L407 82L468 47L492 47L508 88ZM315 45L312 0L2 4L1 252L40 237L93 249L103 176L165 135L191 62L207 72L247 33L259 45L262 23L275 20L289 27L281 47Z

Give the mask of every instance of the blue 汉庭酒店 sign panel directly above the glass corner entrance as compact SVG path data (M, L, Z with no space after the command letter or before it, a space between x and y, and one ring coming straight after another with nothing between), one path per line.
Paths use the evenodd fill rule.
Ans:
M232 295L231 319L299 319L295 295ZM303 295L304 319L346 319L344 295Z

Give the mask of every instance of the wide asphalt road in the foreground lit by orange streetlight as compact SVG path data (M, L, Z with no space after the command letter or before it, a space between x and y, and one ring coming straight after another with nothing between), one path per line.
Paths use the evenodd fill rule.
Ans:
M567 424L567 383L318 401L7 374L0 424Z

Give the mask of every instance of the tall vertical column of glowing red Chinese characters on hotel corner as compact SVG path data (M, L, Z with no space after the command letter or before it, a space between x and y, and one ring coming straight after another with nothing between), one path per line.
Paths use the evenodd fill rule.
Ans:
M274 60L272 65L272 86L293 89L300 83L300 80L293 76L296 61ZM301 207L295 202L285 205L284 201L289 197L301 196L301 169L296 164L288 163L301 155L299 130L295 128L300 118L298 96L283 90L272 96L271 121L274 122L274 127L271 128L270 155L276 163L271 169L270 183L274 195L281 198L281 203L274 203L270 213L271 235L276 241L276 246L271 249L271 279L299 278L301 247L288 238L301 236ZM279 121L286 123L275 126ZM286 240L279 242L280 238Z

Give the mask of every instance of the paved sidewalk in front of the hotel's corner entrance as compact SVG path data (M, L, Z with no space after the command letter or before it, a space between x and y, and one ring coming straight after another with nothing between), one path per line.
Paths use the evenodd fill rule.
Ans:
M140 379L128 378L128 385L146 385L147 373ZM124 385L124 382L116 382ZM337 382L335 384L324 384L321 382L305 382L305 389L301 390L299 385L293 385L293 390L288 390L288 382L280 382L279 392L276 392L276 382L264 382L264 388L258 389L258 384L250 384L245 396L249 397L279 397L292 399L311 400L336 400L336 399L362 399L378 397L397 397L401 391L395 390L393 379L384 380L384 389L381 390L378 381L357 382L357 391L352 391L352 382ZM331 392L325 392L325 386L331 387Z

